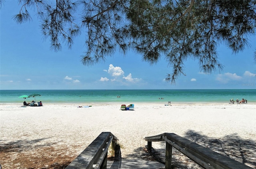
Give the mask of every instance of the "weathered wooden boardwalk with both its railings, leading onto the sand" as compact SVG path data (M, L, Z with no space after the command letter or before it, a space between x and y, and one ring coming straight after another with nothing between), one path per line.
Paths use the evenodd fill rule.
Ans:
M252 167L174 133L163 133L144 138L145 141L148 141L147 148L149 151L152 148L152 141L166 141L165 165L158 161L144 159L122 159L120 145L116 143L117 140L111 132L102 132L66 169L80 169L81 167L84 169L171 169L173 147L206 169L252 169ZM108 160L107 156L110 144L114 149L113 160Z

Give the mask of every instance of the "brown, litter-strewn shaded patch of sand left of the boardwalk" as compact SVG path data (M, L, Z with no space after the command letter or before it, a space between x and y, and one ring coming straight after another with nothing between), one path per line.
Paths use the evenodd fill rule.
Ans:
M53 144L57 143L44 143L44 140L47 139L50 138L9 142L0 140L0 165L3 169L16 167L28 169L65 168L71 162L70 156L65 154L65 149L54 149Z

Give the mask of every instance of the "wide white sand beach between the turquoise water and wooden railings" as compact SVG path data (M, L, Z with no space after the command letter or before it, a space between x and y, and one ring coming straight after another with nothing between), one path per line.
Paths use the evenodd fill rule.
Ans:
M92 107L79 108L78 106ZM101 132L118 138L122 158L145 156L146 136L165 132L228 155L256 169L256 104L44 104L0 105L3 169L56 169L68 165ZM210 143L209 143L210 142ZM161 143L152 143L157 149ZM164 158L164 157L163 157Z

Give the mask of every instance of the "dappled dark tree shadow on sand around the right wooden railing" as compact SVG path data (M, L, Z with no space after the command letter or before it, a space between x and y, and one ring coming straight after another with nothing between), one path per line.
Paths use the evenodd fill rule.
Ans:
M210 138L193 130L188 130L184 138L256 169L256 141L254 140L242 139L237 134L226 135L223 138ZM156 147L154 147L155 144ZM151 155L161 163L165 163L165 146L165 141L152 143ZM172 168L203 169L175 148L172 151Z

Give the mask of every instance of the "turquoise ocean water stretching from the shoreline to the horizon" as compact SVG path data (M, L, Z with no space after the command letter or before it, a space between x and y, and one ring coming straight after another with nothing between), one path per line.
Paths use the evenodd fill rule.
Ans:
M256 103L256 89L250 90L0 90L0 103L22 103L24 94L41 94L26 98L43 103L229 103L231 98ZM120 96L118 98L117 96ZM160 98L160 99L159 99ZM163 99L162 99L163 98Z

